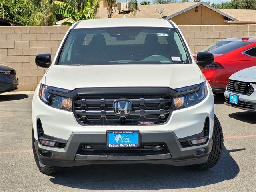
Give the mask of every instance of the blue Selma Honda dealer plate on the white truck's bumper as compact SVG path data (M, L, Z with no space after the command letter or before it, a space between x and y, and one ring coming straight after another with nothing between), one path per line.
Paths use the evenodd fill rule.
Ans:
M107 131L107 147L138 147L139 131Z

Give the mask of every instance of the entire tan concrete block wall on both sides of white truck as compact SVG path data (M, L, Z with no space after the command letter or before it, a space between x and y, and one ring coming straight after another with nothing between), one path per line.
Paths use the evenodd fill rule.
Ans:
M179 26L192 53L213 42L238 36L256 36L256 25ZM50 53L52 60L67 26L0 26L0 63L16 69L18 91L35 90L46 69L34 63L36 54Z

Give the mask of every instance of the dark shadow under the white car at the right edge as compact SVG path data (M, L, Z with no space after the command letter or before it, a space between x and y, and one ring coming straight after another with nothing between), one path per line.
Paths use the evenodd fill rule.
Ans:
M243 121L250 124L256 124L256 113L251 111L242 111L231 113L228 115L230 118Z

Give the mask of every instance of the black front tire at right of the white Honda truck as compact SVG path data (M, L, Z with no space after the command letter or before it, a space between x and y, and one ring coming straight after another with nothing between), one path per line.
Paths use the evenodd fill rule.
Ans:
M212 151L209 154L208 160L203 164L190 165L187 166L187 168L192 170L206 170L215 166L217 162L220 160L223 148L223 133L220 122L216 115L214 115L212 140Z

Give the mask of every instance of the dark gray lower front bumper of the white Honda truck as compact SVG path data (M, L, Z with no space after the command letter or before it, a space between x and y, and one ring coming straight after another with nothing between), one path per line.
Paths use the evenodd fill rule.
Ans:
M168 131L140 133L140 144L165 143L169 151L166 154L132 156L78 154L81 143L93 145L99 142L106 143L106 134L73 132L66 142L65 148L42 146L38 140L35 140L34 144L38 158L42 164L61 167L107 163L153 163L186 166L205 163L212 150L212 138L209 138L206 144L182 148L176 134ZM202 148L205 151L199 152L198 149ZM49 153L42 154L42 150L47 150Z

